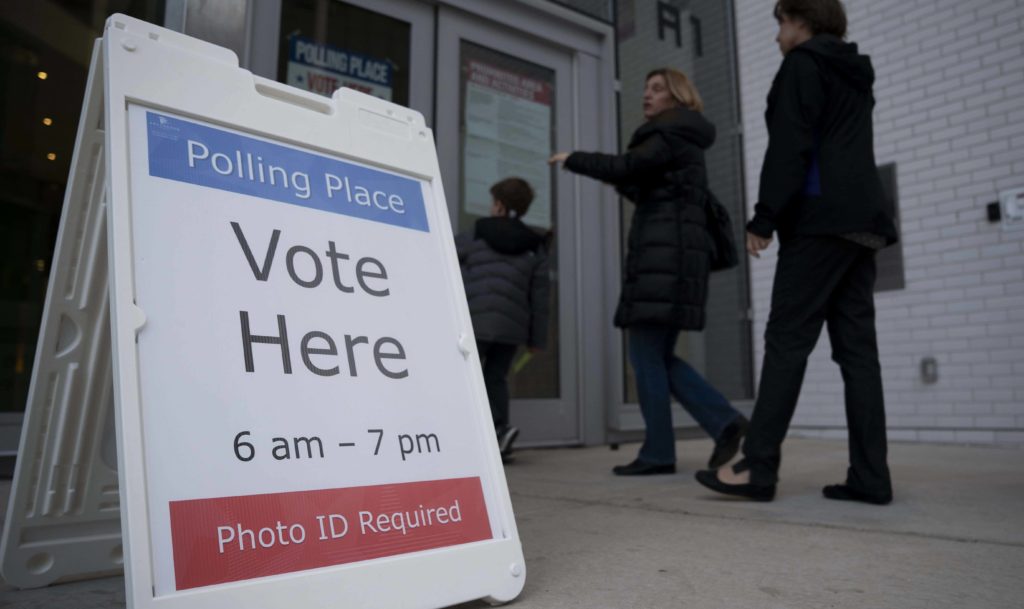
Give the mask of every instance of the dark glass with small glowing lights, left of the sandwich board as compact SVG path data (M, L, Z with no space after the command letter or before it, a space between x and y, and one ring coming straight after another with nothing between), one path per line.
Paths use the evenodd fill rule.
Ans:
M112 12L161 24L164 2L7 2L0 11L0 412L28 399L92 45Z

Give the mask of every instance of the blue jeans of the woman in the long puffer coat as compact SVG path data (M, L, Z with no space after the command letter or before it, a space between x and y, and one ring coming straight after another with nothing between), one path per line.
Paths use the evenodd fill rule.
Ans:
M679 331L667 325L629 329L630 361L647 427L639 459L655 465L676 463L670 392L712 438L718 439L739 417L739 410L725 396L673 353L678 337Z

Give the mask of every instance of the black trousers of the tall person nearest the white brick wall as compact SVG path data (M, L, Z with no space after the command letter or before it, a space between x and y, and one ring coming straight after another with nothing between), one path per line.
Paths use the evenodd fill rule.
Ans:
M791 237L780 244L761 384L743 455L755 484L778 480L782 440L797 407L807 358L827 324L843 374L850 432L847 484L892 491L886 414L874 334L874 251L842 237Z

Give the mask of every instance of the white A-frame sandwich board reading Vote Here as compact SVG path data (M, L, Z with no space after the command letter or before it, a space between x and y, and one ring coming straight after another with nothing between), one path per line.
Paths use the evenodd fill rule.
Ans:
M519 594L422 116L114 15L73 168L7 581L123 563L128 606L169 609Z

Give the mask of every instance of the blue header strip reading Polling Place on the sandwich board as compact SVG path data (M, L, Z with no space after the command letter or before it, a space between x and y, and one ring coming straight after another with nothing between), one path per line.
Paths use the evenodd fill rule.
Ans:
M150 175L429 232L421 183L146 112Z

